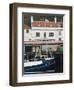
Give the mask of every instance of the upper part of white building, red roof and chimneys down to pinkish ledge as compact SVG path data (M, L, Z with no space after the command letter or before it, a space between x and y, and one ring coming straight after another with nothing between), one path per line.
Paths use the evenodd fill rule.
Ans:
M31 16L31 28L25 25L24 41L63 41L63 22L54 21L33 21Z

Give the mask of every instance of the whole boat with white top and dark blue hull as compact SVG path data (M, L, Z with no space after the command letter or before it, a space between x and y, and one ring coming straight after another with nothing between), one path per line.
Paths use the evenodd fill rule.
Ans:
M25 73L43 73L43 72L54 72L55 71L55 59L44 58L40 61L33 61L24 63Z

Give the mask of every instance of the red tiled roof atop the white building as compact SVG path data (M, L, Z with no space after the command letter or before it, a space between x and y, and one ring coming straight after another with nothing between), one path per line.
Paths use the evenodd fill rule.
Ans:
M63 27L63 22L34 21L32 27Z

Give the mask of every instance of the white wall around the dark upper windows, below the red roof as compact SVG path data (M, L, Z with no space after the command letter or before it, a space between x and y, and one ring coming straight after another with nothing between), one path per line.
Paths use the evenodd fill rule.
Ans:
M59 31L61 32L61 35L59 35ZM36 32L40 33L40 37L36 37ZM46 38L44 38L44 32L46 32ZM49 37L49 33L54 33L54 36ZM50 39L55 39L59 40L61 38L63 40L63 29L29 29L29 33L26 33L26 29L24 29L24 41L28 41L29 39L31 40L50 40Z

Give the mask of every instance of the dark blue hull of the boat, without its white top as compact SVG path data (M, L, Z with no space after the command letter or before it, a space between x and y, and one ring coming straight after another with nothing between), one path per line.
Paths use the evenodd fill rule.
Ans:
M55 61L53 60L42 60L42 64L40 65L33 65L24 68L24 72L31 73L31 72L47 72L49 70L55 70Z

